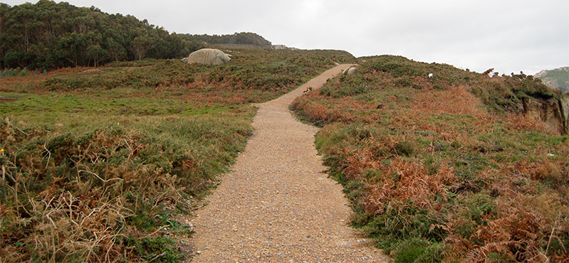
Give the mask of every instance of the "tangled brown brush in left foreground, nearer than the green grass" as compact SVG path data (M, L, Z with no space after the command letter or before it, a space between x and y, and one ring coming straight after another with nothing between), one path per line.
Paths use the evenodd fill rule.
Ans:
M5 119L0 256L5 262L181 259L164 237L182 230L173 227L175 215L197 205L191 200L250 134L211 122L174 122L178 130L170 134L182 142L119 125L74 135L20 129ZM167 127L152 127L161 128Z

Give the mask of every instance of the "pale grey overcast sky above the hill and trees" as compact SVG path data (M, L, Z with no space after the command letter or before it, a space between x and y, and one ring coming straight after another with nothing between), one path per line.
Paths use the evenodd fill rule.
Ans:
M11 6L33 1L0 0ZM569 66L568 0L68 0L170 33L254 32L303 49L403 55L484 72Z

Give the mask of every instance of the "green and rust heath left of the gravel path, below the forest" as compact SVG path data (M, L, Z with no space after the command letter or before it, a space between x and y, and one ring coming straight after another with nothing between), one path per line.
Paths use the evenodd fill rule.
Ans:
M224 50L224 65L115 62L0 78L0 261L179 262L255 109L334 50ZM13 72L18 72L13 74Z

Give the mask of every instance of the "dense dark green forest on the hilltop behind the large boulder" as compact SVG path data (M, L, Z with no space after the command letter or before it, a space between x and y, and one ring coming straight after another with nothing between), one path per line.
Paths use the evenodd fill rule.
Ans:
M19 6L0 3L0 68L96 67L111 61L182 58L204 42L271 45L254 33L168 33L146 20L107 14L95 6L50 0Z

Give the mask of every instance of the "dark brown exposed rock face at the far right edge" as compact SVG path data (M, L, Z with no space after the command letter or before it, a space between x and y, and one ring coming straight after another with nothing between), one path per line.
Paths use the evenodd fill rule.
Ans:
M524 98L523 112L526 117L539 119L560 134L569 133L569 97L561 101L555 98Z

